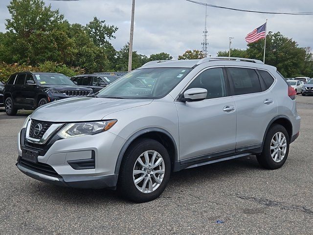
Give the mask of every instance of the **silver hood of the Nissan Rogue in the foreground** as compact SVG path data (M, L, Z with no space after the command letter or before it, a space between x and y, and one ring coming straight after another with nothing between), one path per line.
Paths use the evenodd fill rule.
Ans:
M147 105L151 99L67 98L36 109L31 118L51 122L101 120L108 114Z

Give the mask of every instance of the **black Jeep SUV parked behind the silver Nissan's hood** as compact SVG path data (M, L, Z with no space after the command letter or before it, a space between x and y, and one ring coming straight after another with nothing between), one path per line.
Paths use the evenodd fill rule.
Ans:
M6 114L13 116L19 109L34 110L48 102L92 93L61 73L18 72L4 85L3 99Z

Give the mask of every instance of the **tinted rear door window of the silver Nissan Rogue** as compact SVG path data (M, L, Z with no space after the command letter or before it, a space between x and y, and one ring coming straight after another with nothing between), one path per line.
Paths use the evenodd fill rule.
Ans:
M259 76L253 69L227 68L234 95L261 92Z

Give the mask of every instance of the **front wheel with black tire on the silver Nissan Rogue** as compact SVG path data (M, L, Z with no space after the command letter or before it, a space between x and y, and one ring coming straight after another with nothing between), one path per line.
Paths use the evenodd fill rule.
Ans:
M149 167L144 167L144 165L148 165L146 164L145 155L149 157ZM141 159L142 164L139 164L138 159ZM159 163L159 165L152 167L152 159L155 160L154 164ZM156 171L160 173L156 173ZM162 171L163 173L161 173ZM130 145L124 154L120 166L117 190L123 197L134 202L152 201L164 191L170 179L170 174L171 160L166 148L152 139L138 139ZM135 180L138 181L137 184L135 184ZM145 182L146 185L144 186Z

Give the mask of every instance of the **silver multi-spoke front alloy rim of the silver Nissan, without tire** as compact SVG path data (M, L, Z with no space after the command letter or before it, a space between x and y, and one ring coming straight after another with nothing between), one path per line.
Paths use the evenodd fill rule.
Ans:
M162 156L154 150L145 151L134 164L134 184L143 193L153 192L161 185L164 173L165 163Z

